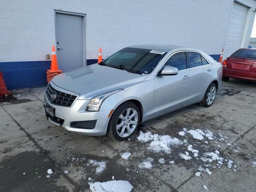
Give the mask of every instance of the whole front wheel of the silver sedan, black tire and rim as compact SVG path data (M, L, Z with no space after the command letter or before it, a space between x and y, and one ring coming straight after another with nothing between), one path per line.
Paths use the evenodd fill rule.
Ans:
M114 110L109 120L108 135L119 141L127 140L136 132L139 123L140 110L138 106L133 102L124 102Z

